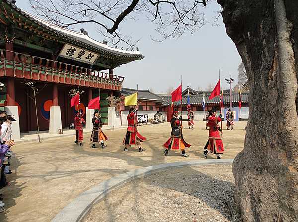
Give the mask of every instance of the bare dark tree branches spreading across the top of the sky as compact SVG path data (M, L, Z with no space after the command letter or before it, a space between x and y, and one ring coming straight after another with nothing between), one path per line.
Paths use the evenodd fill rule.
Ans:
M147 13L156 24L155 31L163 41L179 38L185 31L193 33L205 24L205 7L210 0L29 0L37 15L63 28L94 23L97 30L112 44L125 42L133 47L138 41L123 35L119 25L136 15ZM219 15L218 15L219 17ZM217 17L217 18L218 18Z

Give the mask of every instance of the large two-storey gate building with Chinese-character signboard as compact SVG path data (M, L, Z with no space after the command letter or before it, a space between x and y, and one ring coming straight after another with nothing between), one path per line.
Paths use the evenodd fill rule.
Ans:
M0 82L4 84L0 109L17 120L12 124L14 138L19 132L37 129L35 105L30 99L33 91L25 84L33 81L41 89L36 98L40 130L58 133L73 122L77 109L90 118L86 106L99 92L101 115L107 123L105 98L120 96L124 81L113 69L143 56L138 51L112 48L81 32L46 22L10 0L0 0ZM75 88L85 91L79 108L70 107L69 91Z

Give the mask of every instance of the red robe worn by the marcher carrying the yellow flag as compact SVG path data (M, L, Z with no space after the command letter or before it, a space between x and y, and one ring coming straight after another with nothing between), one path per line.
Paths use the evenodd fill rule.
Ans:
M136 145L137 139L139 139L140 142L144 142L146 138L138 132L138 119L134 112L131 112L127 115L127 123L127 132L123 139L123 144Z

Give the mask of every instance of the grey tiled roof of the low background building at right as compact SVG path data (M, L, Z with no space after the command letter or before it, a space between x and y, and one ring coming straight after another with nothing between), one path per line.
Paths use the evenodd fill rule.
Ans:
M210 104L210 103L220 103L220 97L214 97L212 100L209 100L211 92L205 92L205 104ZM242 93L242 103L248 103L249 99L249 93ZM230 95L229 94L224 94L224 103L230 103ZM164 99L164 105L171 104L172 103L172 98L171 96L165 96L163 97ZM203 101L203 93L202 95L191 95L190 96L190 104L202 104ZM239 101L239 94L238 93L233 93L232 94L232 102L238 102ZM180 101L175 102L174 104L180 104ZM187 104L187 96L182 96L182 105Z

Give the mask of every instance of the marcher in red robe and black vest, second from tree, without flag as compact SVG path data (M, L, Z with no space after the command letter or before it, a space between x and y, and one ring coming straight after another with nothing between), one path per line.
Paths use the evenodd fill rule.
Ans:
M186 143L183 135L182 135L182 125L181 120L182 116L178 118L179 112L175 110L173 112L173 117L171 119L171 137L163 144L163 147L165 148L164 155L167 156L169 154L169 150L179 150L181 149L181 156L187 157L188 155L185 153L185 148L190 147L191 145Z

